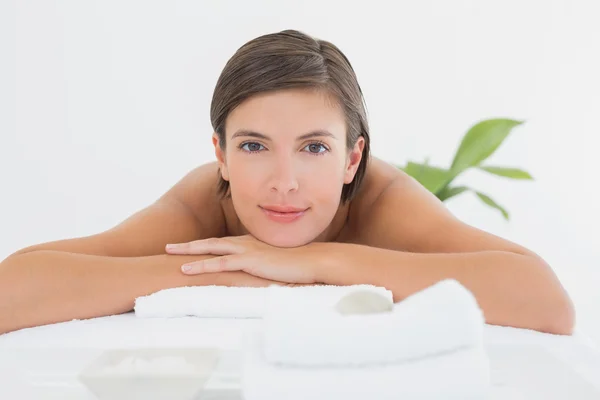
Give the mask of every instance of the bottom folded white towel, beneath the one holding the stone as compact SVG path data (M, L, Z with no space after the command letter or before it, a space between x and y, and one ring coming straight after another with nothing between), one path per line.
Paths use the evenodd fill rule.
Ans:
M397 364L369 367L287 367L263 357L263 337L246 338L242 370L244 400L475 400L490 388L483 347Z

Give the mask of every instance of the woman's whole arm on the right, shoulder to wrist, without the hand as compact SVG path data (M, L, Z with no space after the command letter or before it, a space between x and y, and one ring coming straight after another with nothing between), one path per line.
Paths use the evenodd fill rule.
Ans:
M358 245L315 244L335 254L321 269L325 283L373 283L400 300L454 278L473 292L488 323L572 332L571 300L541 257L462 223L413 178L402 173L362 208Z

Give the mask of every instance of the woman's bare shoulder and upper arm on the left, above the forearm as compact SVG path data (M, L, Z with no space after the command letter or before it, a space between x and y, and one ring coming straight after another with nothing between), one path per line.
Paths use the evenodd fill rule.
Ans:
M90 236L39 243L11 256L38 250L113 257L164 254L167 243L222 235L224 218L217 194L217 163L189 171L156 201L116 226Z

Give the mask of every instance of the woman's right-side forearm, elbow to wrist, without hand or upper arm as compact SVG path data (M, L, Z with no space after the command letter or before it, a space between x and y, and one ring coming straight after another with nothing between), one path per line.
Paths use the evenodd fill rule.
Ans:
M503 251L477 253L406 253L358 245L328 250L322 268L325 283L384 286L394 301L442 279L456 279L469 289L495 325L570 334L571 300L552 269L540 258Z

